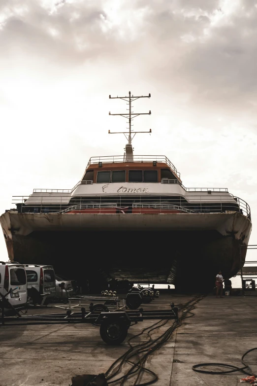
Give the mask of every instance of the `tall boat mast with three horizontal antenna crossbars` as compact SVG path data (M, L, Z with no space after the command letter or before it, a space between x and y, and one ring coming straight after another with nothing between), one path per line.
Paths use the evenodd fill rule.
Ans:
M124 101L128 102L127 103L127 105L129 105L129 108L127 109L128 113L111 114L111 112L109 111L109 115L120 115L120 116L128 119L128 124L129 124L128 132L111 132L109 130L108 133L109 134L124 134L125 135L125 137L128 140L128 143L126 144L125 161L133 161L133 148L131 145L132 139L134 138L134 136L137 133L152 133L152 130L150 129L149 131L136 131L136 132L131 130L131 121L133 120L133 118L137 117L138 115L151 115L151 110L149 110L149 112L134 113L133 111L131 111L131 103L139 98L151 98L151 94L149 94L147 96L142 95L141 97L134 97L132 95L132 97L131 97L131 93L129 91L128 95L129 95L128 97L118 97L118 96L117 97L111 97L109 95L109 99L123 99ZM132 137L131 137L131 134L132 134Z

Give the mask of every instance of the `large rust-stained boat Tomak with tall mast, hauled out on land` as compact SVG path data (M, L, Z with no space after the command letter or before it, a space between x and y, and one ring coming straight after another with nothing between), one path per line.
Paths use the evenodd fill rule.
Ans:
M91 157L72 189L14 197L16 209L0 217L10 260L54 265L91 288L126 280L195 291L213 287L219 270L236 275L252 229L248 204L226 188L186 188L166 156L134 155L140 114L131 103L150 94L117 98L129 105L109 113L128 118L126 152Z

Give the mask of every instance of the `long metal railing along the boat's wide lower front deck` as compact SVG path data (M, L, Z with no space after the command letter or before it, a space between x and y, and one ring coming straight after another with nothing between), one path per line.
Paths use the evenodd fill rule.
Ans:
M70 197L57 195L41 196L14 196L13 204L22 213L54 213L76 210L85 213L87 210L106 210L127 208L126 213L146 212L147 210L159 210L159 212L180 211L187 213L224 213L236 211L251 219L249 205L242 199L230 195L190 195L190 196L94 196L94 197ZM113 211L115 212L115 211Z

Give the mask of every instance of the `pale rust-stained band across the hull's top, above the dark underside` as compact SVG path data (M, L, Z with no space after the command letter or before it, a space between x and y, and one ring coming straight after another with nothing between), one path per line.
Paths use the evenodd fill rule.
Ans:
M238 212L228 213L18 213L0 217L11 235L27 236L34 231L199 231L215 230L222 236L233 235L248 244L252 223Z

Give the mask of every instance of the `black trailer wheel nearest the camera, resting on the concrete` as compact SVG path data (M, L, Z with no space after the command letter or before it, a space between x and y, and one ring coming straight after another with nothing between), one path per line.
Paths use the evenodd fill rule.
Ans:
M100 326L100 336L107 345L120 345L127 334L128 327L124 323L104 322Z

